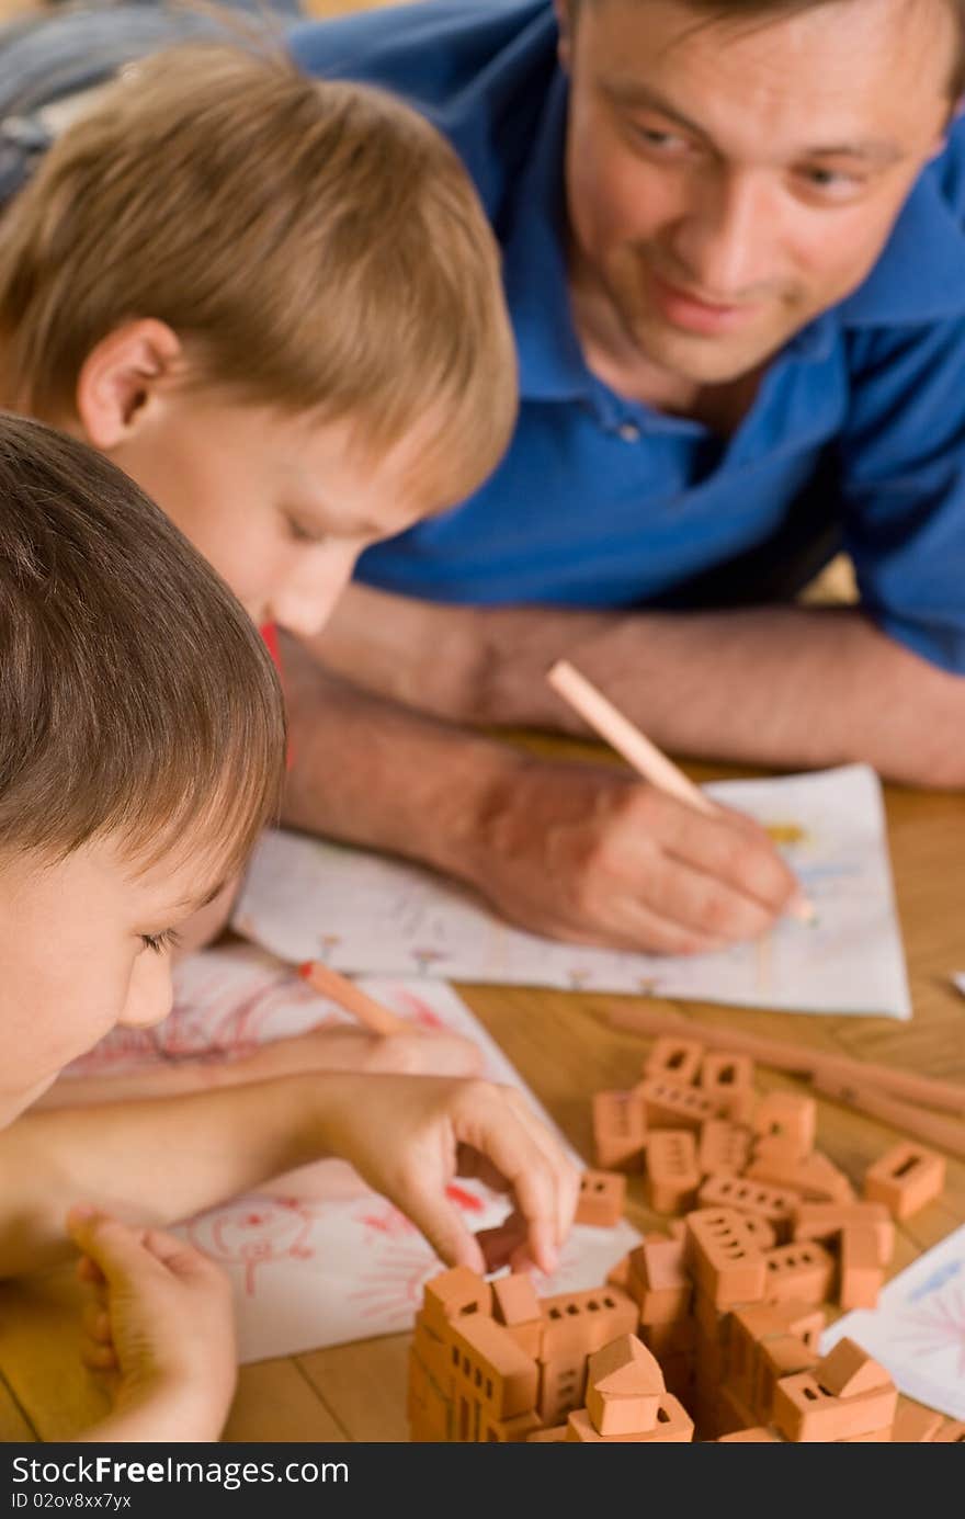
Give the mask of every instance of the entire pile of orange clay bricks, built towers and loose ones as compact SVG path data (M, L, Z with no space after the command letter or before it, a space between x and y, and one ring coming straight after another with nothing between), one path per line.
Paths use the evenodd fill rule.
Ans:
M941 1192L944 1159L897 1145L857 1198L815 1139L807 1094L758 1098L746 1057L657 1041L634 1091L594 1098L600 1170L577 1217L615 1223L644 1170L650 1206L678 1217L591 1291L539 1299L529 1276L465 1267L429 1282L412 1438L965 1443L854 1341L818 1350L827 1302L877 1300L894 1221Z

